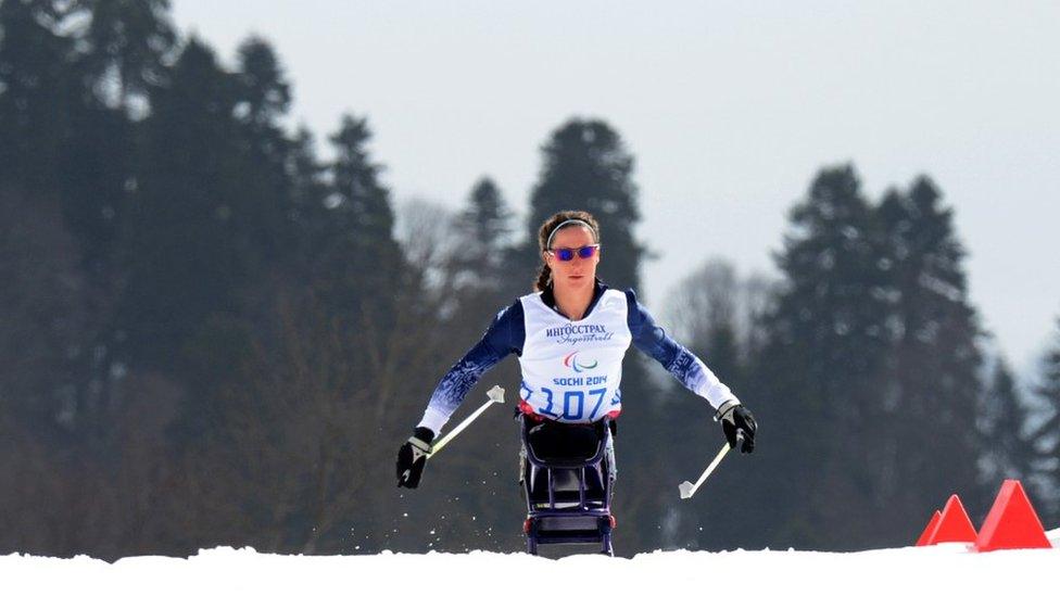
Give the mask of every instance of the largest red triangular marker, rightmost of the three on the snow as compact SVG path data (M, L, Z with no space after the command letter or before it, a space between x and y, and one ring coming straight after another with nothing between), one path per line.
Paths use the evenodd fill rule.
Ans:
M981 553L1001 548L1052 548L1019 480L1006 480L975 541Z

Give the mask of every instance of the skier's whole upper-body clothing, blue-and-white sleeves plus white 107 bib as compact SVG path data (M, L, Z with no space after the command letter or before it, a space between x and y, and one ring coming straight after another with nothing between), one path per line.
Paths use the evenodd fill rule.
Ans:
M485 334L434 389L419 426L436 435L468 391L508 354L519 357L523 411L559 422L592 422L621 411L622 358L630 344L652 356L714 408L740 403L709 368L667 337L632 290L596 281L585 316L559 313L552 288L527 294L493 319Z

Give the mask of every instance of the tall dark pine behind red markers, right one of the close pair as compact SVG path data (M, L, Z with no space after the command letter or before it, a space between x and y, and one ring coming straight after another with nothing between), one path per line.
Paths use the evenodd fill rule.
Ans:
M879 213L893 342L884 400L892 430L881 465L894 470L880 489L895 532L905 524L910 535L918 530L914 511L977 489L975 411L983 357L976 340L982 333L968 300L966 251L954 231L952 210L943 205L935 185L918 178L907 193L888 193ZM923 431L908 423L912 420L931 421L930 451L922 448Z

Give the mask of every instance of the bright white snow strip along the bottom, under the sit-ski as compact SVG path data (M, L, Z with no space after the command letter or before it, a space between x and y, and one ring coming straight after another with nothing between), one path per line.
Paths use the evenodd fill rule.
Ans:
M1060 530L1049 532L1060 547ZM970 553L963 544L863 553L684 550L558 560L467 555L301 557L215 548L189 559L0 557L3 594L1046 594L1060 548ZM1053 587L1049 587L1053 586Z

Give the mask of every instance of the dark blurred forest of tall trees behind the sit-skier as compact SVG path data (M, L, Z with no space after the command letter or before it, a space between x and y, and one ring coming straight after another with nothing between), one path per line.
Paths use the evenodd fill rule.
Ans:
M320 157L281 124L268 41L228 67L168 11L0 3L0 551L520 549L507 411L418 491L394 487L393 456L529 291L547 215L596 214L600 276L641 289L633 154L573 118L525 219L488 176L458 213L395 212L367 118L343 116ZM779 279L705 261L659 313L762 424L708 498L674 495L720 443L712 413L627 359L620 554L909 544L949 493L985 512L1006 477L1060 521L1060 327L1024 394L983 341L930 177L873 200L853 165L821 169L774 256ZM515 394L514 358L469 401L493 383Z

